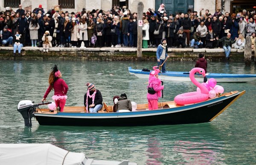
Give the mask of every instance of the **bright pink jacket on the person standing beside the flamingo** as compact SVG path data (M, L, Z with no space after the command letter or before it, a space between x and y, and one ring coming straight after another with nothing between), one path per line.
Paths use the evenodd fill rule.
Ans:
M159 97L161 97L164 86L161 85L161 80L156 78L154 75L150 75L148 78L148 87L153 87L154 91L156 91L155 94L147 94L148 100L158 100Z

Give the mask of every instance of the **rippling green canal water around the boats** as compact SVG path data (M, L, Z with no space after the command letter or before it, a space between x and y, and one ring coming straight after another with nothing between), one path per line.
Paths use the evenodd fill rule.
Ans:
M88 158L121 161L138 165L169 164L255 164L256 163L256 81L217 83L226 92L246 90L220 116L209 123L150 127L24 127L17 112L20 100L40 103L48 87L52 64L58 64L67 82L67 106L82 106L86 82L96 85L103 101L126 93L131 101L147 103L147 80L130 75L128 67L148 68L154 62L89 61L0 61L0 142L51 143ZM167 62L167 70L189 71L195 62ZM256 74L256 67L243 63L208 62L208 72ZM164 82L164 98L195 91L191 82ZM51 101L51 92L47 101ZM159 119L161 120L161 119ZM110 121L111 122L111 121ZM136 121L134 121L136 122Z

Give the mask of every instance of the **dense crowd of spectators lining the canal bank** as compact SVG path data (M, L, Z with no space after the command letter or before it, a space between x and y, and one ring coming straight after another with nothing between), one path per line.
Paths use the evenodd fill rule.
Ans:
M157 47L163 38L168 47L226 46L227 50L231 46L244 49L244 38L248 35L255 40L255 10L236 14L222 14L219 9L214 14L209 10L203 14L203 11L198 14L189 9L185 14L171 14L166 12L164 4L158 10L148 9L143 13L143 48ZM119 6L109 11L83 9L77 13L54 6L45 11L42 5L30 12L19 5L16 12L12 9L0 12L0 33L2 46L16 45L17 49L43 46L45 41L48 45L45 49L50 46L137 47L137 13ZM51 36L51 41L45 35Z

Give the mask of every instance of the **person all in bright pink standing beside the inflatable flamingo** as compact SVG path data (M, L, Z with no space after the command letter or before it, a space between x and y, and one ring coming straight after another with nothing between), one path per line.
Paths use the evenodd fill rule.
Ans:
M153 67L153 71L149 74L148 78L148 87L153 87L154 91L156 91L155 94L147 94L148 99L148 110L157 110L158 109L158 98L161 97L162 93L161 90L163 90L164 86L161 85L161 80L158 79L158 73L160 72L159 69L157 69L157 66Z

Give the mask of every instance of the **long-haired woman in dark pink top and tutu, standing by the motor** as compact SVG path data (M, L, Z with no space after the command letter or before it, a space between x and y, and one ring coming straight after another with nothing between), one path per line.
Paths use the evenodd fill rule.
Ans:
M54 90L54 95L52 96L52 100L55 101L56 107L59 107L60 111L63 112L64 106L66 104L67 99L67 90L68 86L66 82L61 78L61 72L58 70L57 65L54 65L52 68L52 72L49 75L49 87L44 94L44 98L42 101L45 101L50 91Z

